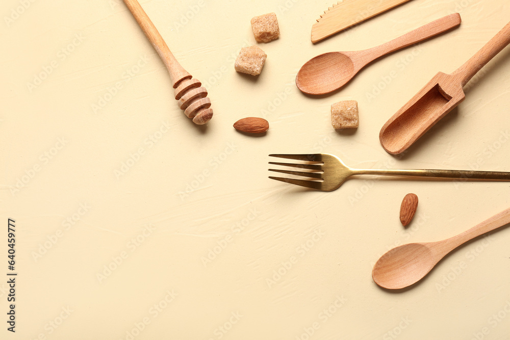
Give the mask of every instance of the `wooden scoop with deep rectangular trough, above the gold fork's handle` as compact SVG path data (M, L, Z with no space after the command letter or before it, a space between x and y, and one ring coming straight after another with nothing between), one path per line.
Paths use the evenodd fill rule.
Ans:
M464 85L509 43L510 23L456 71L436 74L382 126L379 133L382 147L392 154L409 148L464 100Z

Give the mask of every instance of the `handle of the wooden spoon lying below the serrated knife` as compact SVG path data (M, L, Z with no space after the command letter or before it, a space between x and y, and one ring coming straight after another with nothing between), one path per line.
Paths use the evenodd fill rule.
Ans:
M461 15L453 13L442 17L436 21L432 21L422 27L404 34L385 44L370 48L364 52L367 56L371 56L371 60L377 59L401 48L416 44L440 33L446 32L461 24Z

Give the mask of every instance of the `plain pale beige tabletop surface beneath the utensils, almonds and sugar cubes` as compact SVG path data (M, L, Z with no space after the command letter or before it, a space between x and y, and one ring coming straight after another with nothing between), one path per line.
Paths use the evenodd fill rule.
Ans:
M120 0L2 3L0 211L5 226L16 221L19 276L16 333L2 322L0 338L510 339L510 228L458 249L411 290L371 278L395 245L442 240L508 208L508 184L361 177L322 193L267 178L275 152L329 152L360 168L510 171L508 48L404 158L378 142L434 74L506 24L506 1L414 0L317 45L310 31L324 1L141 4L206 84L207 128L176 107ZM237 52L255 43L250 18L268 12L281 38L259 45L268 58L258 79L236 73ZM315 55L369 48L452 12L460 28L382 58L334 95L294 85ZM355 132L331 128L329 106L342 99L359 101ZM267 135L237 133L246 116L265 117ZM409 192L420 206L404 229Z

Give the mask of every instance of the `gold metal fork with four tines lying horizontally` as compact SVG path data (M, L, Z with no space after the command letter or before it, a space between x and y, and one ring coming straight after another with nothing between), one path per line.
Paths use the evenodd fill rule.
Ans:
M308 177L309 179L294 179L273 177L301 187L307 187L322 191L338 189L342 183L352 175L384 175L422 178L455 178L455 179L482 179L482 180L510 180L510 172L500 171L467 171L467 170L430 170L430 169L352 169L342 162L337 156L329 153L311 154L270 154L271 157L286 158L304 161L308 163L279 163L269 164L300 168L311 171L290 171L269 169L269 171L286 173L289 175Z

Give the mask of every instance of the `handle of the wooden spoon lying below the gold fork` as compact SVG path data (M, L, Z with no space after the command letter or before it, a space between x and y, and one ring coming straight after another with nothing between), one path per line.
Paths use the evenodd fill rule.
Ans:
M494 215L493 217L481 223L478 223L471 229L468 229L463 233L458 234L457 236L438 242L438 246L442 248L444 254L447 254L461 244L464 244L469 240L483 235L486 232L502 227L508 223L510 223L510 208Z

